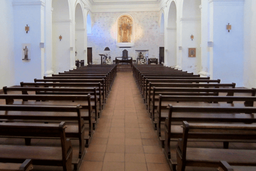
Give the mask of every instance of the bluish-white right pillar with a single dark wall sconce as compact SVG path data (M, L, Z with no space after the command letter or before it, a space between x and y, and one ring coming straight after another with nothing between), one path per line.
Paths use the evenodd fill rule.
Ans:
M243 86L244 68L244 4L243 0L214 1L211 15L212 79ZM226 25L232 30L228 32Z

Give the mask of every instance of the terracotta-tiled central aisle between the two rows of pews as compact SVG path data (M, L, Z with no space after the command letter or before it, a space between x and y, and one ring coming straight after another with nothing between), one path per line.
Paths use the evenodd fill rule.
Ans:
M170 171L131 72L118 72L80 171Z

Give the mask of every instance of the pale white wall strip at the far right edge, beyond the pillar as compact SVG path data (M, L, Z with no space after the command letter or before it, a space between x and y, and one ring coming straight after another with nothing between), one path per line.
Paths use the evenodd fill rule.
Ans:
M256 88L256 0L245 0L244 7L244 86Z

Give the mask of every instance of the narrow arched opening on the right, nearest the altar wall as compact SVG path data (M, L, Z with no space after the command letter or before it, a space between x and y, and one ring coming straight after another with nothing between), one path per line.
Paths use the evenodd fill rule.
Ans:
M174 1L171 2L168 13L167 31L167 53L165 53L165 61L170 67L177 65L177 8Z

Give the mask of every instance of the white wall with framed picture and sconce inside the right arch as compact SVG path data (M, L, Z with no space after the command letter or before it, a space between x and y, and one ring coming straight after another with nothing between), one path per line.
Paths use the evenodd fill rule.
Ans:
M198 74L201 70L201 0L184 0L181 22L182 69ZM193 40L191 35L194 36ZM189 48L196 48L196 57L190 57Z

